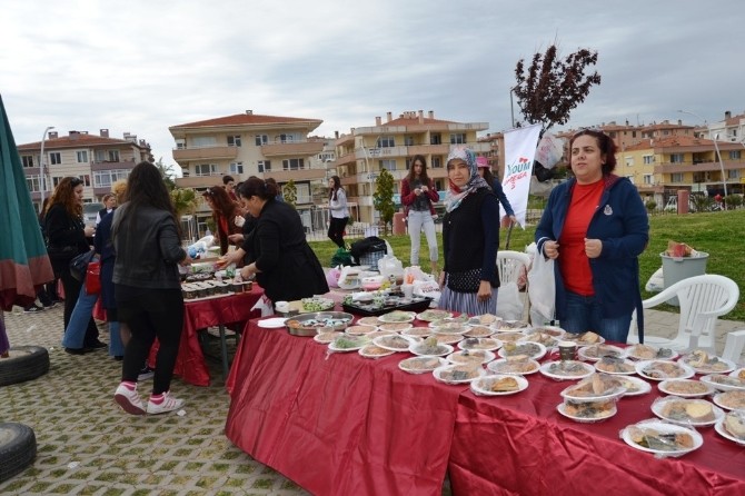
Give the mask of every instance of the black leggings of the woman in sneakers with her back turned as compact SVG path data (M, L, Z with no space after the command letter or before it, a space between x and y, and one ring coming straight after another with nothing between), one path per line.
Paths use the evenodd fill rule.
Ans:
M119 321L129 325L132 333L125 349L121 380L137 383L137 376L157 337L160 346L156 356L152 394L169 390L183 327L181 289L117 286L116 296Z

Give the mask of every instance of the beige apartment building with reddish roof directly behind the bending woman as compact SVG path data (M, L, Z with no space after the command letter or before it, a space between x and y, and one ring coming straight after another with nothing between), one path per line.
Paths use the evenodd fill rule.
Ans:
M237 182L257 176L279 186L290 179L297 188L297 208L312 229L316 204L326 198L327 165L334 160L330 139L309 136L322 120L244 113L200 120L168 128L176 140L173 159L183 171L180 188L203 191L222 185L222 176ZM198 217L209 217L202 206ZM200 230L203 230L200 228Z

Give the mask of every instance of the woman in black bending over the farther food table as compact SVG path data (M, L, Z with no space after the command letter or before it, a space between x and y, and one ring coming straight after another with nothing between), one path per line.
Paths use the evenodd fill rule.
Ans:
M292 301L328 292L324 269L306 241L297 210L277 201L277 187L249 178L238 190L244 208L257 219L244 241L251 260L241 269L244 278L257 282L272 301Z

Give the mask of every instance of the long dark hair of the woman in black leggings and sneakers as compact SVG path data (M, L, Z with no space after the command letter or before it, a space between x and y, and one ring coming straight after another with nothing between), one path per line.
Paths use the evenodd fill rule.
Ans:
M137 218L135 214L138 210L155 208L157 210L166 210L171 215L179 235L179 241L181 240L181 222L178 221L168 188L166 188L166 182L163 182L160 170L156 166L147 161L135 166L129 173L127 190L123 196L123 201L129 202L129 205L119 220L117 231L125 224L125 219L130 218L133 222ZM135 227L135 225L132 224L131 227Z

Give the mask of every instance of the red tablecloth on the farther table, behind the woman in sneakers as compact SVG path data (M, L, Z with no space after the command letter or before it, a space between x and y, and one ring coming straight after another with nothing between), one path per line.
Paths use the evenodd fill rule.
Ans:
M195 386L209 386L209 369L201 351L197 331L220 324L232 324L259 317L260 313L251 308L264 295L257 284L249 292L205 299L183 305L183 334L179 345L173 373ZM155 363L157 347L150 353L150 363Z

